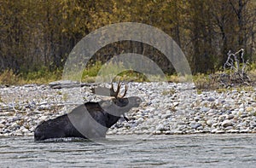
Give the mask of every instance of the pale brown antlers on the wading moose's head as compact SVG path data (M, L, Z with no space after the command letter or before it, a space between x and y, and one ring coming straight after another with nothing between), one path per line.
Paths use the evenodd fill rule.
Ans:
M121 88L121 82L119 80L116 91L113 90L113 83L111 84L110 89L108 89L106 87L100 87L99 86L97 88L92 88L91 91L92 91L92 93L96 93L96 94L101 95L101 96L114 96L116 99L118 99L118 98L125 97L126 92L128 90L128 86L127 86L127 84L125 84L125 92L124 92L123 96L119 96L120 88Z

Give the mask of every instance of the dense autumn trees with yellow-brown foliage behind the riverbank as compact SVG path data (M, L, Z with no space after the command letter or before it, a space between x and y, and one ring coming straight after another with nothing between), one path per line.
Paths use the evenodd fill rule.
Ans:
M245 49L256 61L254 0L0 0L0 72L25 79L60 78L71 49L88 33L112 23L133 21L169 34L189 60L192 72L215 72L229 50ZM169 74L170 63L144 43L112 43L94 61L137 52ZM54 77L51 74L55 74ZM7 76L7 77L6 77ZM14 81L15 82L15 81Z

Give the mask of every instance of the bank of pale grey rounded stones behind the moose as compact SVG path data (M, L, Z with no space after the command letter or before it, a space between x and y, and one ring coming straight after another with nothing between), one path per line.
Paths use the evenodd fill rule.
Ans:
M110 86L109 84L103 84ZM126 96L143 103L108 130L108 134L256 133L256 88L198 91L193 84L129 83ZM83 100L108 97L81 90ZM32 136L44 120L67 113L66 92L49 85L0 86L0 136ZM69 102L70 103L70 102ZM77 104L78 102L73 102Z

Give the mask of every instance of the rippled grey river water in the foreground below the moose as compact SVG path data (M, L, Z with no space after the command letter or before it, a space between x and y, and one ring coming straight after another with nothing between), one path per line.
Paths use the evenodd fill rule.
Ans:
M256 135L108 136L100 143L0 138L0 167L256 167Z

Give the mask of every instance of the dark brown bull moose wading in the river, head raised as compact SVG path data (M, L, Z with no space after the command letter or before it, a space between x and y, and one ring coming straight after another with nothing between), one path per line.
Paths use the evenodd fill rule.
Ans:
M123 96L119 96L120 82L117 90L108 90L109 96L113 96L108 101L92 102L88 101L75 107L71 113L64 114L55 119L44 121L34 131L34 140L43 141L49 138L80 137L85 139L105 138L108 128L116 124L125 113L132 107L138 107L142 99L137 96L125 98L127 85ZM99 88L102 89L102 88Z

